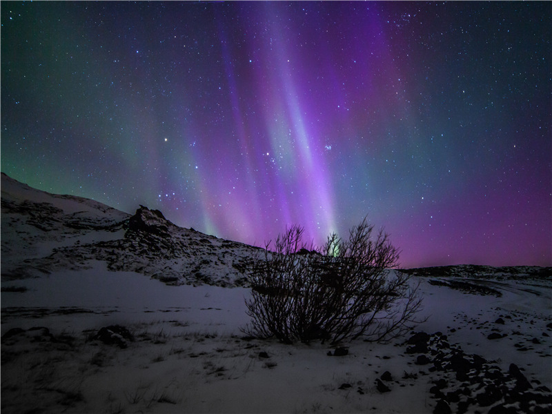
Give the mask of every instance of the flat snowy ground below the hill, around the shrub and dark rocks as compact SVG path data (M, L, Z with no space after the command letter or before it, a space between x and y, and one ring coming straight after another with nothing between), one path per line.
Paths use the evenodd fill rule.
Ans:
M446 380L444 395L462 388L453 371L416 364L418 354L404 344L411 335L391 344L346 344L340 357L319 343L246 338L240 327L248 322L247 288L166 286L110 272L103 262L6 286L26 290L1 296L3 413L433 413L434 382ZM507 377L516 364L533 390L552 388L550 288L494 287L501 297L422 279L429 319L415 331L440 331L451 348L495 361L483 371L496 366ZM132 335L125 348L91 340L112 325ZM506 336L488 339L492 333ZM430 344L437 339L444 342L432 337ZM391 380L381 380L386 371ZM380 392L378 379L391 391ZM475 401L485 390L477 386ZM533 393L550 398L546 388ZM501 403L474 403L467 412ZM458 404L449 403L453 412Z

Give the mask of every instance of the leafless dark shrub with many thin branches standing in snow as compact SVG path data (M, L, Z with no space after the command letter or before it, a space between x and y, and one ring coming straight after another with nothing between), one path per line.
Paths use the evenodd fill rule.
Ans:
M364 337L388 340L415 324L422 299L411 276L398 270L399 250L366 218L344 240L332 234L322 248L302 244L292 226L253 260L248 273L252 318L248 335L282 342Z

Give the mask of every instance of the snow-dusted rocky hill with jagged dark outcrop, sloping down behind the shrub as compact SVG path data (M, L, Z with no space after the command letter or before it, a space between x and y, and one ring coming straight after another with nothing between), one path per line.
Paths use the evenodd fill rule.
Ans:
M135 215L71 195L54 195L1 177L2 279L59 269L142 273L166 284L242 286L258 248L181 228L159 210Z

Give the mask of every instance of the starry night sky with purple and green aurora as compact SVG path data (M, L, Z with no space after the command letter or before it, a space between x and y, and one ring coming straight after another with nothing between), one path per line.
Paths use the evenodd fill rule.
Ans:
M552 2L1 3L1 170L264 245L552 265Z

